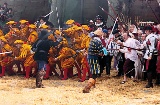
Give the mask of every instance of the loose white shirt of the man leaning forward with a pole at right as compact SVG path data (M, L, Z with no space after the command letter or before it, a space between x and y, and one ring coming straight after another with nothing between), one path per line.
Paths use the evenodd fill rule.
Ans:
M130 47L130 48L137 48L136 40L133 38L128 38L124 43L124 46ZM131 51L128 50L128 48L124 47L123 49L120 49L122 53L125 53L125 58L130 59L131 61L136 61L138 59L137 51L134 49L131 49Z

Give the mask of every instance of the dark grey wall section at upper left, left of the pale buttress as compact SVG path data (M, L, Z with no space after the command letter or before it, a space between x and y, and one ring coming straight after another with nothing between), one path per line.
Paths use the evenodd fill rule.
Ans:
M8 7L13 9L13 19L27 19L35 21L39 16L50 11L49 0L0 0L0 5L8 3Z

